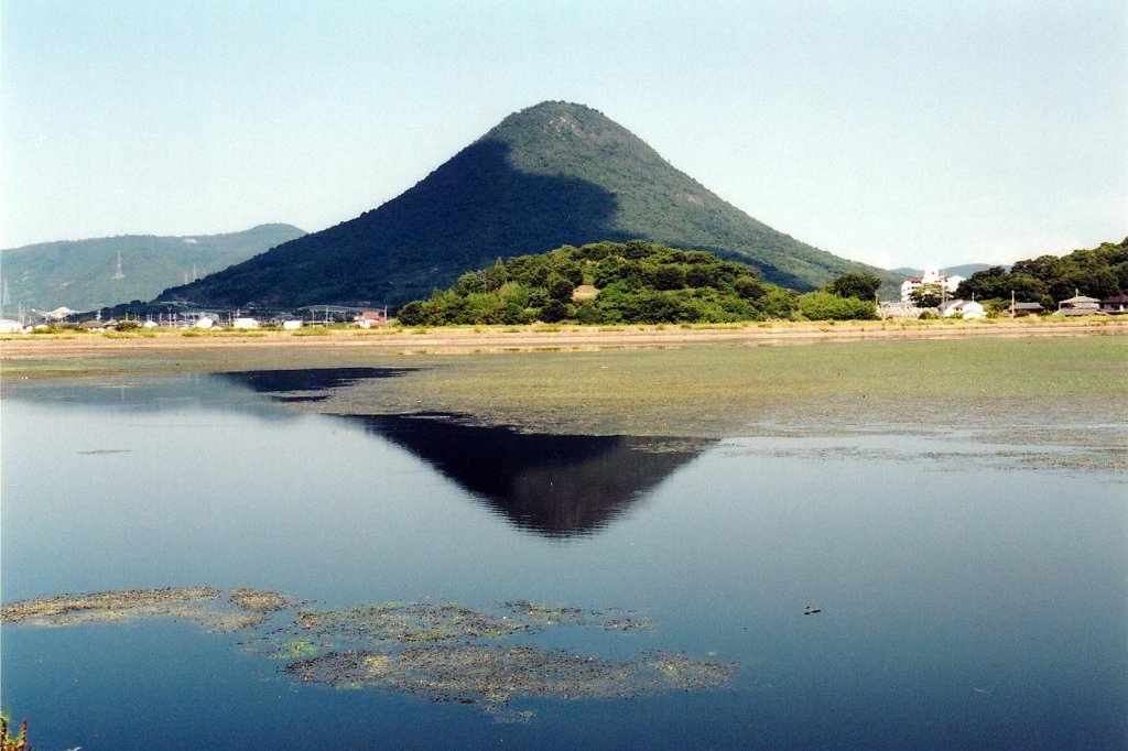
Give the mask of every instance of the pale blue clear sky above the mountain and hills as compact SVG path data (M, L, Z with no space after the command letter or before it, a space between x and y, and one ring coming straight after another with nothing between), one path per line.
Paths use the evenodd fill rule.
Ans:
M1128 235L1123 0L3 0L0 43L2 247L324 229L545 99L880 266Z

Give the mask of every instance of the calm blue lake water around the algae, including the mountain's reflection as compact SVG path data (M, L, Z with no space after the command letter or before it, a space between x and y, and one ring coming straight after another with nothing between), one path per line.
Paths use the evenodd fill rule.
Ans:
M550 436L288 406L395 377L7 387L3 601L206 584L317 607L625 608L654 627L566 646L685 653L732 680L514 697L517 722L305 684L176 620L6 625L2 704L37 749L1128 742L1123 478L957 434Z

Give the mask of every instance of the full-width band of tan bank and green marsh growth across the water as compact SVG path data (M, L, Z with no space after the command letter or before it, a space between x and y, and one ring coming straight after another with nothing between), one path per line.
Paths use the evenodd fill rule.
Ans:
M962 323L968 330L985 325L990 326ZM457 354L438 354L429 342L380 352L327 341L325 346L289 348L173 344L167 350L6 357L5 387L45 377L409 365L416 370L379 382L359 381L336 389L325 401L290 408L411 414L428 405L429 410L467 415L479 424L534 432L691 438L948 426L1084 441L1085 432L1069 426L1096 424L1117 426L1121 445L1128 442L1123 326L1102 325L1085 336L1024 336L1022 332L1043 326L1034 320L999 327L1005 336L993 332L989 337L962 337L963 329L938 321L865 321L857 328L838 326L821 342L788 337L791 330L817 332L811 324L752 326L756 338L747 343L673 339L667 348L661 343L633 345L633 329L625 327L609 327L620 335L607 337L598 348L578 346L570 338L571 327L561 333L559 343L522 346L485 336L483 345L475 345L477 335L467 328L461 336L469 346ZM768 330L763 332L764 326ZM884 327L895 335L901 327L945 332L948 338L832 338L839 332L864 336ZM773 336L775 330L779 337Z

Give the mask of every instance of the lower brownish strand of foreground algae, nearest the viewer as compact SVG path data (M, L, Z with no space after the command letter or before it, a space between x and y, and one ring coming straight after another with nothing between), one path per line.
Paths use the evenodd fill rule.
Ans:
M378 686L430 701L506 704L514 697L624 699L723 687L732 665L682 654L616 661L565 650L497 644L411 647L403 652L331 652L285 668L302 682Z

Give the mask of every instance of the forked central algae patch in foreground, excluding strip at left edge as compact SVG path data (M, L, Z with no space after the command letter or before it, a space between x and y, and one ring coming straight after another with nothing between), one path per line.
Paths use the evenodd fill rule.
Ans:
M731 664L682 654L647 652L623 661L511 643L557 627L653 628L649 617L635 611L513 600L499 612L503 615L430 602L303 611L294 620L298 631L352 648L294 659L284 670L306 683L382 688L490 710L512 697L614 699L710 690L732 674Z

